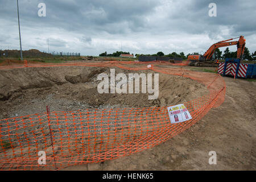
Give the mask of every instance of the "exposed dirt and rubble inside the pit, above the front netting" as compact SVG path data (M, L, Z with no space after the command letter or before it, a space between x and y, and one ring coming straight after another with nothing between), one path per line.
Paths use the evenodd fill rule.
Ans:
M98 93L97 76L110 75L109 68L55 67L18 68L0 71L0 118L44 113L51 110L71 111L86 108L158 107L181 104L208 93L207 88L189 78L159 73L159 97L148 100L144 93ZM154 73L116 68L115 74ZM154 84L153 84L154 85Z

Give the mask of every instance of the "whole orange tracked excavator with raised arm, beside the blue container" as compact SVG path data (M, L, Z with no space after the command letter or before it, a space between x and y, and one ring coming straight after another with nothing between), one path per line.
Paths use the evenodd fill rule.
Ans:
M238 41L228 42L230 40L238 39ZM220 47L234 46L237 45L237 59L242 59L243 52L245 51L245 38L240 36L238 38L223 40L210 46L204 55L189 55L188 60L191 61L189 65L196 67L218 67L218 63L214 60L214 51ZM218 61L218 60L217 60Z

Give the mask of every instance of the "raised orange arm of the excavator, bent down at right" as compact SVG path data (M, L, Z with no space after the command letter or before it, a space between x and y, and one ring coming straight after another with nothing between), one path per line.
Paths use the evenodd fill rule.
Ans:
M236 39L236 38L234 38ZM220 47L234 46L237 45L237 59L242 59L243 52L245 51L245 38L240 36L238 41L228 42L233 39L223 40L221 42L215 43L204 53L204 57L206 60L210 60L214 51Z

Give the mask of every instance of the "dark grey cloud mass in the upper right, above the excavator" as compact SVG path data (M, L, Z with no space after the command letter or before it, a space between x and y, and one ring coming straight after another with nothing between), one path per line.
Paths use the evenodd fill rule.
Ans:
M209 3L216 3L217 17L208 16ZM255 1L179 1L175 9L168 14L168 24L174 25L172 30L191 34L220 34L220 26L232 28L231 36L255 33L256 19ZM242 31L241 31L242 30ZM238 34L237 34L238 33Z

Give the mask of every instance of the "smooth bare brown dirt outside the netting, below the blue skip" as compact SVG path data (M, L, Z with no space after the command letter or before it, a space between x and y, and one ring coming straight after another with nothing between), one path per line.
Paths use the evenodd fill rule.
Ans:
M189 130L137 154L64 170L255 170L256 82L225 82L224 104ZM209 151L216 151L216 165L209 164Z

